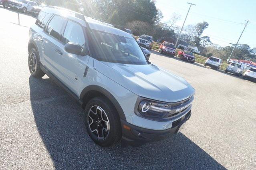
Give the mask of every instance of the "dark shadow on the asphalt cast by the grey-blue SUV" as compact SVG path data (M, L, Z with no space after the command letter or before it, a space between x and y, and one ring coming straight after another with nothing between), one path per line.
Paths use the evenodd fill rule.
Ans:
M60 87L32 76L29 85L36 126L56 169L224 169L182 133L138 148L97 146L85 130L83 110Z

